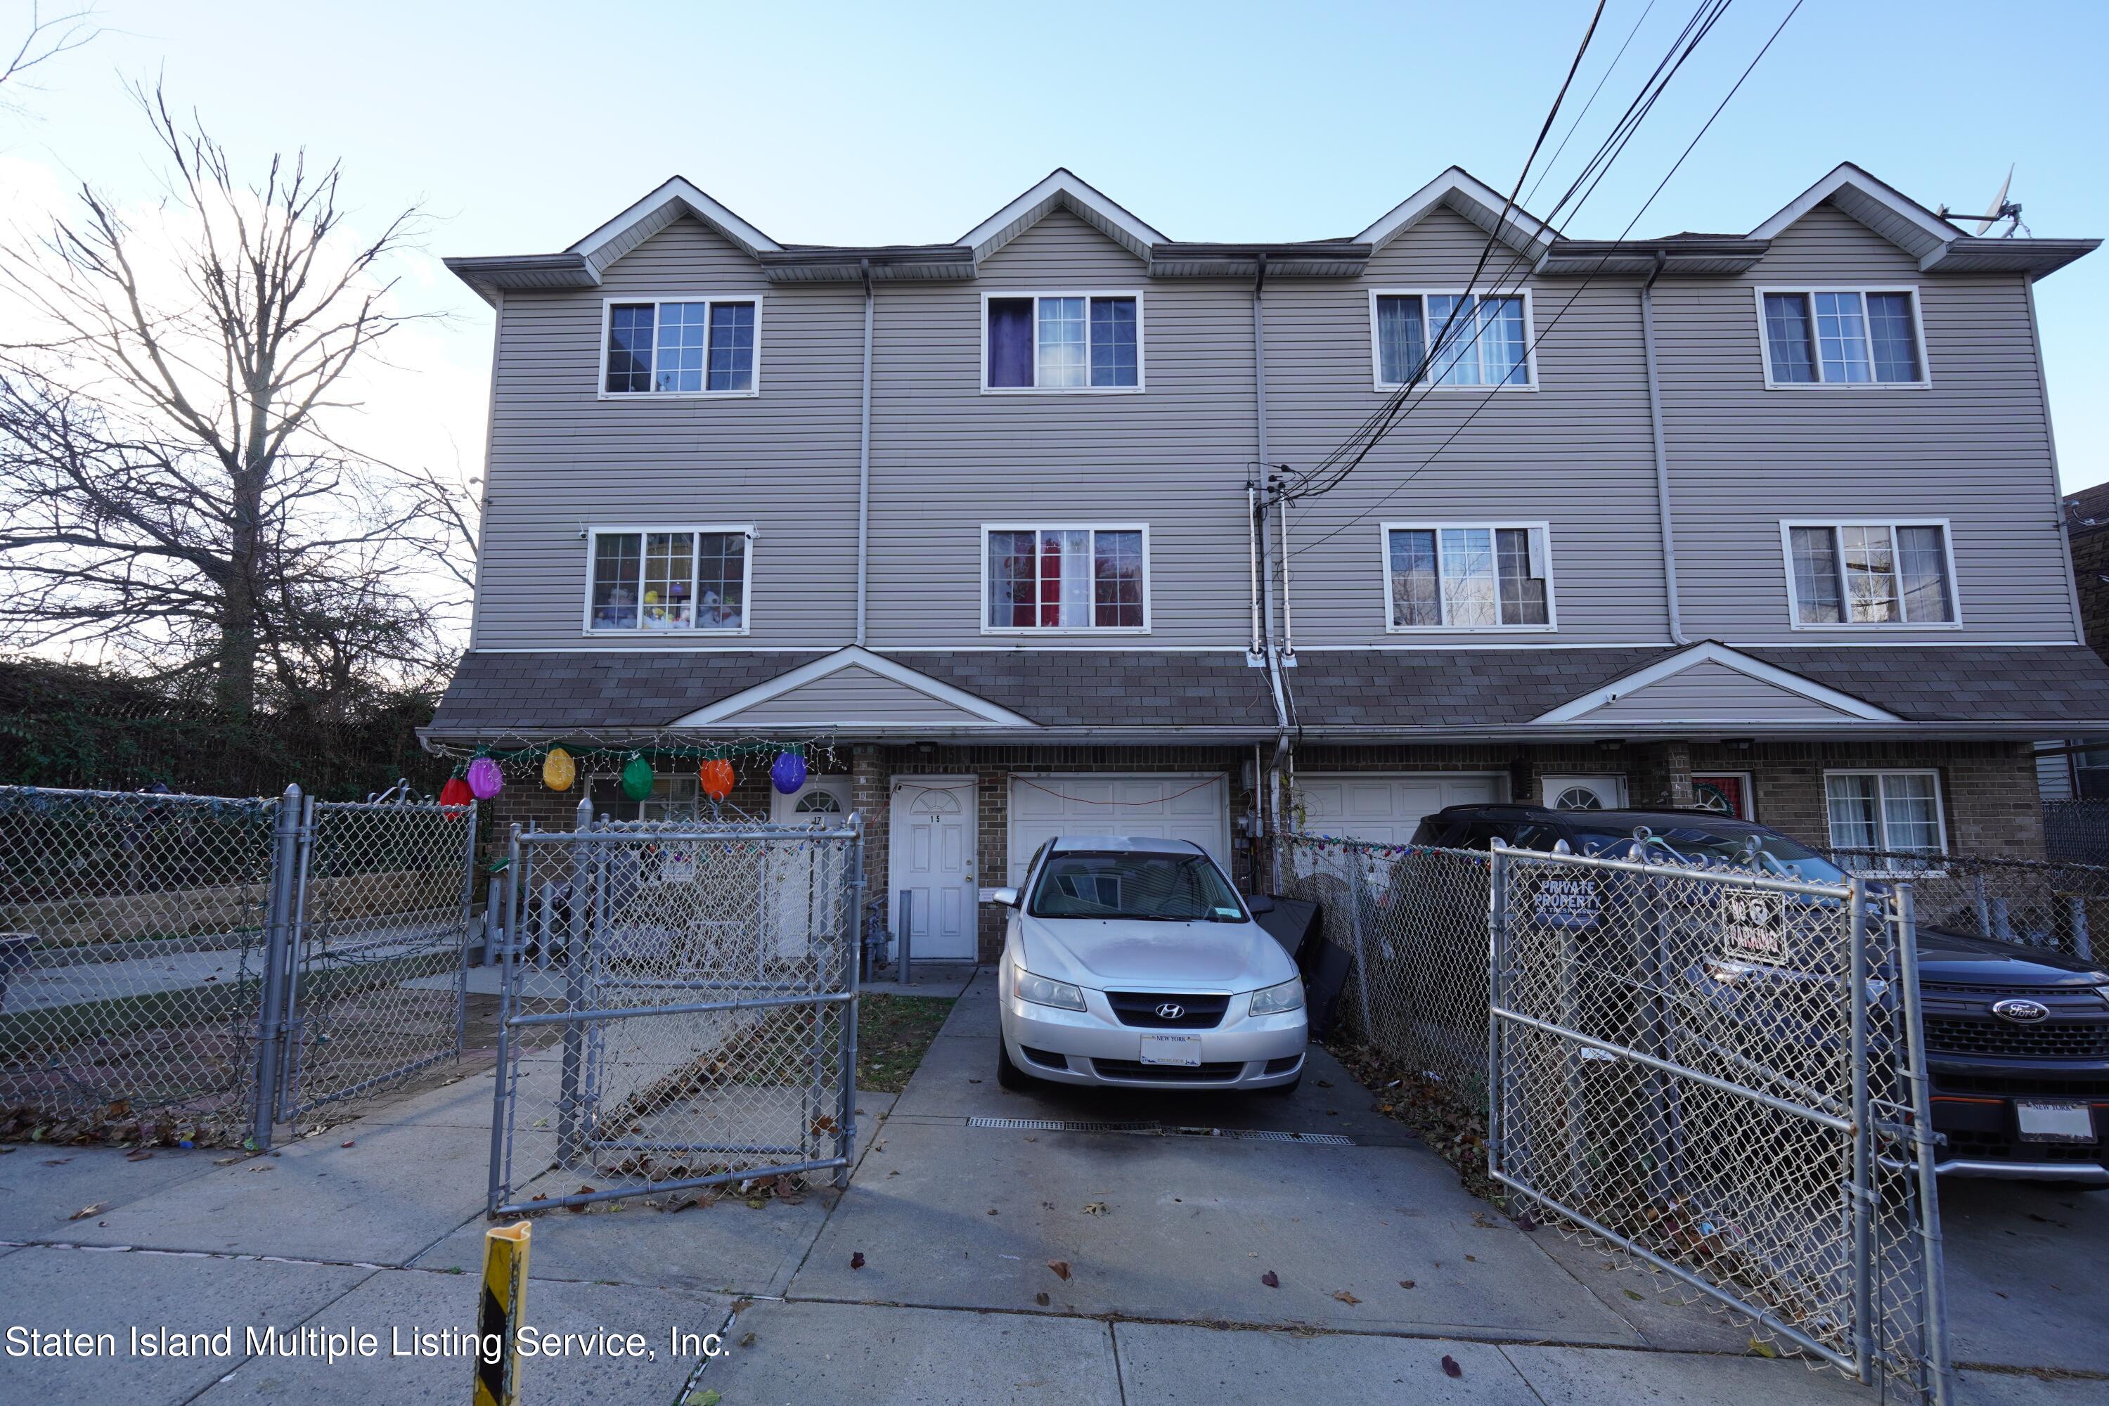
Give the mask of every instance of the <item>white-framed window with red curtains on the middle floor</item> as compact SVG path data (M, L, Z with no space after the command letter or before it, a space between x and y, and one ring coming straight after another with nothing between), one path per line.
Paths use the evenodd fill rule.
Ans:
M985 634L1149 630L1149 527L1023 525L981 529Z

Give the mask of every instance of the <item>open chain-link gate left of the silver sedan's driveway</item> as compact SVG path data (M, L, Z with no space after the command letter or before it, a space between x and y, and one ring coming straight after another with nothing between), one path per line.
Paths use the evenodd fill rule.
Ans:
M515 826L489 1214L848 1180L860 898L856 816Z

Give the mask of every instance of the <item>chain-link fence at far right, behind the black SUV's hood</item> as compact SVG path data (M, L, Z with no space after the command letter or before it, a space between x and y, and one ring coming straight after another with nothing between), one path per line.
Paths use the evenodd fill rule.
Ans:
M2094 934L2103 932L2109 942L2109 868L2096 864L1892 850L1820 854L1852 875L1909 881L1923 927L2048 946L2090 961Z

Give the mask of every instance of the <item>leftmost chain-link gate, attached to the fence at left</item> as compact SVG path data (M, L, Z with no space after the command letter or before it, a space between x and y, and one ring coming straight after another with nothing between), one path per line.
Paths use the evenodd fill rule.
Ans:
M295 860L278 1119L462 1052L475 805L310 801Z

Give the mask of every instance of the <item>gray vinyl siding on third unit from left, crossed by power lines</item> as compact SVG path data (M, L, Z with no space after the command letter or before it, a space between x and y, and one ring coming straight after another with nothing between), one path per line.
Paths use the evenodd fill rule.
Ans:
M1464 289L1485 245L1485 232L1438 209L1386 245L1358 282L1270 282L1270 457L1312 468L1384 403L1371 373L1371 289ZM1516 287L1506 247L1478 287ZM1537 390L1499 390L1491 401L1485 388L1415 392L1407 417L1343 487L1291 508L1299 649L1664 639L1637 299L1632 280L1586 291L1578 280L1533 282L1531 335L1552 329L1537 346ZM1573 310L1561 316L1569 301ZM1443 447L1472 411L1472 424ZM1388 634L1377 527L1388 519L1546 521L1559 630Z

